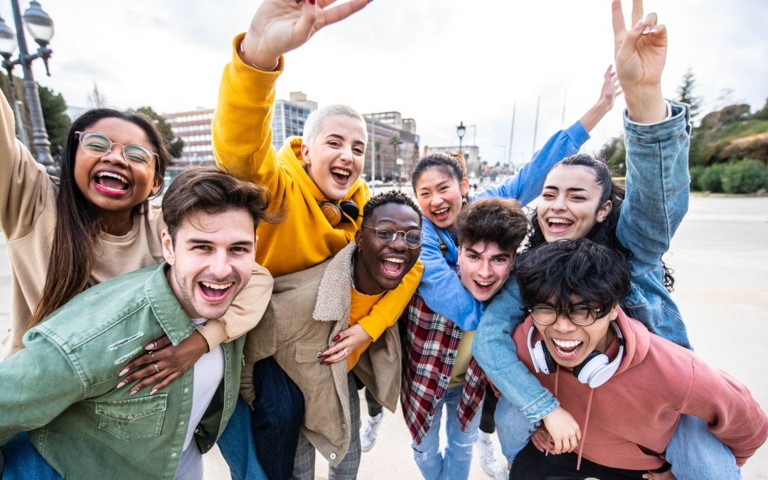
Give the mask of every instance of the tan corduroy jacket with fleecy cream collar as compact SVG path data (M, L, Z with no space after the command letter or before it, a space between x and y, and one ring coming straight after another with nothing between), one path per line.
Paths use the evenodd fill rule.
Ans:
M274 356L304 396L302 432L332 464L349 449L349 389L346 361L320 363L331 339L349 326L352 296L350 243L317 266L275 279L270 305L243 349L240 392L253 401L253 363ZM400 312L392 312L399 316ZM362 353L352 370L374 398L394 412L400 394L400 338L397 323Z

